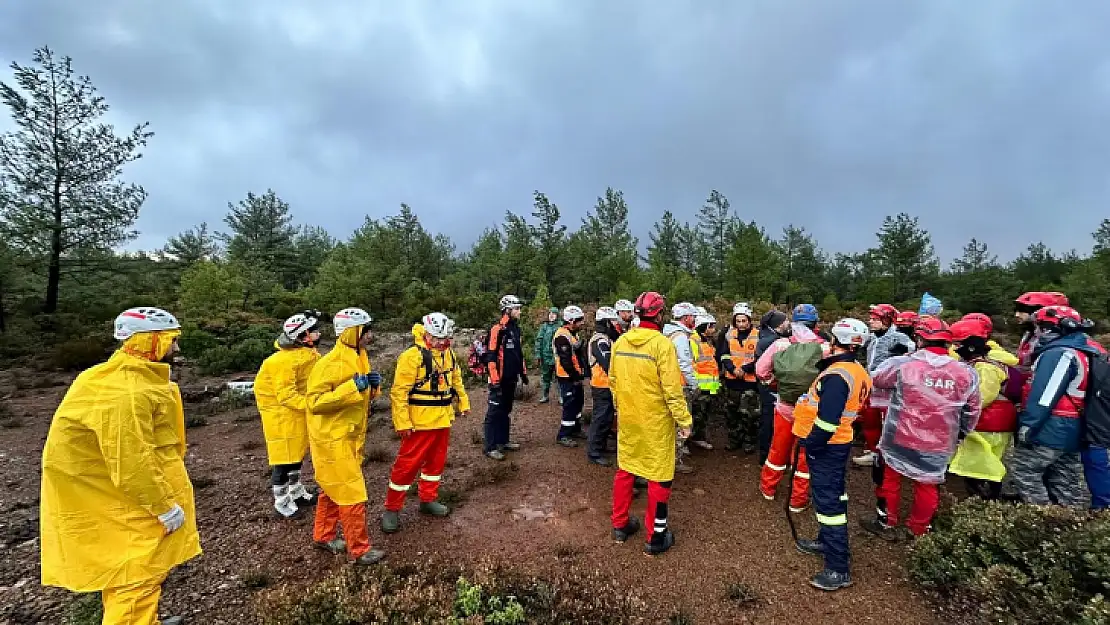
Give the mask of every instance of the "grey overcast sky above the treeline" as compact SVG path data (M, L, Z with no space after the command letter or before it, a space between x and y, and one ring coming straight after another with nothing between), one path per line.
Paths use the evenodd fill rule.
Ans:
M947 261L1089 251L1107 24L1106 0L4 0L0 61L49 44L151 122L139 248L268 187L341 239L406 202L466 248L534 189L576 225L612 185L642 241L718 189L831 251L905 211Z

